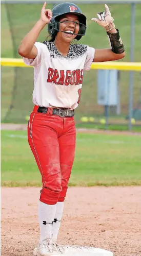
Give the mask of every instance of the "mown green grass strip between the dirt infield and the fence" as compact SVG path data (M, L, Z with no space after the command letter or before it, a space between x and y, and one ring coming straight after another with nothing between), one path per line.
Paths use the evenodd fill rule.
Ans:
M69 185L141 185L141 137L78 133ZM1 182L41 186L26 131L1 132Z

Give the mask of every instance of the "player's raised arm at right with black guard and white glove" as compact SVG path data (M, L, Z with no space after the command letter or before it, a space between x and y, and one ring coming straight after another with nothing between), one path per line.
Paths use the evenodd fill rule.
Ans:
M93 62L112 61L124 58L124 45L119 36L119 31L115 28L113 23L114 19L110 13L109 7L105 5L105 11L98 12L97 17L98 18L92 18L92 21L106 29L111 49L95 49Z

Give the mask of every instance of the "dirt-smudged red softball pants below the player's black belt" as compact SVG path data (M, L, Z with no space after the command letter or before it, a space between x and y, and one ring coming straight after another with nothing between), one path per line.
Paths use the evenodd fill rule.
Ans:
M28 122L28 142L42 175L40 200L47 204L63 202L75 153L73 117L37 112L35 106Z

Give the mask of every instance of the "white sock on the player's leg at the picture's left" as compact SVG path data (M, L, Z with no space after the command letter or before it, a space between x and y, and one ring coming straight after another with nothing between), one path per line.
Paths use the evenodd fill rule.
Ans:
M51 236L52 223L55 217L56 204L50 205L39 201L38 204L38 219L40 228L40 240L43 241L45 238Z

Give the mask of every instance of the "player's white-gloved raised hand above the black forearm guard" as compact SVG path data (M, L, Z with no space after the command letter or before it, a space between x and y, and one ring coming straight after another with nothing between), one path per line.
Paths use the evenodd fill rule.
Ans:
M92 18L91 20L104 27L107 31L110 31L115 27L113 17L109 10L108 5L105 5L105 11L97 13L98 18Z

